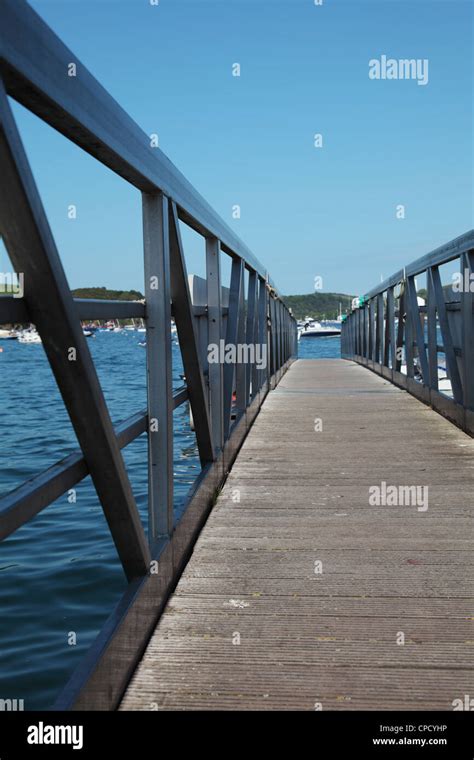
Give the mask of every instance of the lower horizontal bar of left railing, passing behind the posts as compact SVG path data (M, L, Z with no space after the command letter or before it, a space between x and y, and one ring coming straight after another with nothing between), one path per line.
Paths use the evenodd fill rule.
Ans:
M173 394L174 408L188 398L187 388ZM146 411L137 412L115 427L119 447L123 449L147 430ZM19 488L0 499L0 541L31 520L38 512L58 499L89 474L81 452L74 452Z

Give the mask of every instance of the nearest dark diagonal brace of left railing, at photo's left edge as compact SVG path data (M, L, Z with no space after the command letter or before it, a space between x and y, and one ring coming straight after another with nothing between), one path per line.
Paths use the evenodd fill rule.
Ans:
M36 325L129 580L148 571L149 551L61 260L0 82L0 233Z

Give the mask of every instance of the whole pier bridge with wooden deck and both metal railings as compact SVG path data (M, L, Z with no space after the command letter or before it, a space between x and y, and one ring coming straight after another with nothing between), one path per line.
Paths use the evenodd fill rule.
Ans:
M73 298L10 99L140 194L145 303ZM0 499L0 539L90 475L127 582L54 708L456 709L473 693L474 294L440 267L471 282L474 232L367 283L341 359L299 360L271 271L23 0L0 6L0 167L24 283L0 325L36 326L78 441ZM187 271L184 225L205 277ZM115 426L93 319L146 326L147 406ZM175 519L183 404L200 469ZM142 435L146 526L122 456Z

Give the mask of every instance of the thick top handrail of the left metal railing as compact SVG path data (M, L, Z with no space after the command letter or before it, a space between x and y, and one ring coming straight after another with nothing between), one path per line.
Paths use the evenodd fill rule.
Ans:
M262 277L266 268L150 136L119 106L25 0L0 5L0 71L8 94L138 189L161 190L179 218ZM71 63L76 76L67 76Z

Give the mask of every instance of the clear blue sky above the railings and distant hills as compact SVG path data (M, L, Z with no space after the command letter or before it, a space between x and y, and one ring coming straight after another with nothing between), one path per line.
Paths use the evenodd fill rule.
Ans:
M283 293L311 292L319 275L326 291L366 291L473 226L471 2L31 5L159 134ZM369 79L369 60L382 54L427 58L428 84ZM14 110L71 286L142 289L139 193ZM185 240L200 273L204 259Z

